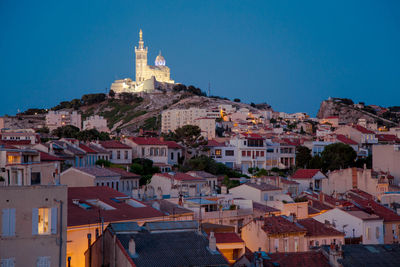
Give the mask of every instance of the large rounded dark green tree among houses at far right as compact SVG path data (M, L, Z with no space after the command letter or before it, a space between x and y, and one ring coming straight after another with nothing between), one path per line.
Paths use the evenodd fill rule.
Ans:
M324 171L345 169L355 165L357 153L354 149L343 143L327 145L322 151L321 159Z

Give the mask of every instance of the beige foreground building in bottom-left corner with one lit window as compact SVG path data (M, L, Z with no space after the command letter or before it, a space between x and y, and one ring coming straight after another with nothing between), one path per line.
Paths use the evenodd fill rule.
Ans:
M66 266L66 186L0 187L1 266Z

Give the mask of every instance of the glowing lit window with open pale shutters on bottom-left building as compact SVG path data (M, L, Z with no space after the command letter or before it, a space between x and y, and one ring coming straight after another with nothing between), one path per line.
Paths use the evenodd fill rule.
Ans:
M32 210L32 234L57 234L57 208L35 208Z

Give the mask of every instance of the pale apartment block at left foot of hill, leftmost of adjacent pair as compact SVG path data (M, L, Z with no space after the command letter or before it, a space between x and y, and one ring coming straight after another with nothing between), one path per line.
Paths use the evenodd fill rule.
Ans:
M81 129L81 114L76 111L68 112L52 110L46 114L46 127L49 128L50 131L66 125L72 125Z

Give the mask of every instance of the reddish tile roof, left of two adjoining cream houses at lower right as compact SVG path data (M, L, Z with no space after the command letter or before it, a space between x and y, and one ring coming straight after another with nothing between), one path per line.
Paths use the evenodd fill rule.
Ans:
M267 234L306 233L306 229L299 224L289 221L282 216L272 216L264 219L261 227Z

